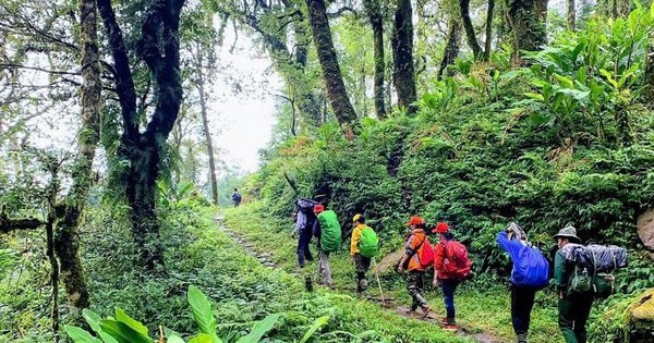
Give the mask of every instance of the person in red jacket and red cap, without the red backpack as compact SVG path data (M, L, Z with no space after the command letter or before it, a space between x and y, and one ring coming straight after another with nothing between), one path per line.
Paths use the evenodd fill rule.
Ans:
M443 287L443 299L445 302L445 310L447 317L443 319L443 324L446 330L458 330L455 311L455 291L460 283L460 280L452 278L445 270L445 262L447 260L446 246L450 241L455 240L455 236L449 231L449 225L446 222L439 222L436 224L436 229L432 232L437 232L440 237L440 242L434 247L435 259L434 259L434 287Z

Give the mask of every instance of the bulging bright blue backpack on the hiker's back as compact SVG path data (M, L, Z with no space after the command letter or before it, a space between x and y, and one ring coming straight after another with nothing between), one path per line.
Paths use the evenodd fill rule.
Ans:
M543 289L549 283L549 262L537 247L523 246L513 261L513 284Z

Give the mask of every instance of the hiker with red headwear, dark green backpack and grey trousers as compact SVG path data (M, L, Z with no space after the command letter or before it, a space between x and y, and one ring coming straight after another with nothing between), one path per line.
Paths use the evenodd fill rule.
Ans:
M332 210L325 210L320 204L314 207L317 220L313 225L313 234L318 240L318 274L323 283L331 289L331 270L329 254L338 250L341 245L341 226Z

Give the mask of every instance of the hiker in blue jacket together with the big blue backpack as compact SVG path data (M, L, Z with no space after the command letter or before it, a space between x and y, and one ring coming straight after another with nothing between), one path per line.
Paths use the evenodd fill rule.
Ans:
M526 343L536 292L549 282L549 262L537 247L528 243L526 234L514 222L499 232L496 241L513 262L509 279L511 321L518 343Z

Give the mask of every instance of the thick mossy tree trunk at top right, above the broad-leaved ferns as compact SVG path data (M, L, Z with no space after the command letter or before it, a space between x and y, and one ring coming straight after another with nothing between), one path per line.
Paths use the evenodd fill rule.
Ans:
M506 20L513 46L513 59L517 60L521 50L535 51L545 45L548 0L506 1Z

